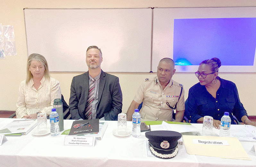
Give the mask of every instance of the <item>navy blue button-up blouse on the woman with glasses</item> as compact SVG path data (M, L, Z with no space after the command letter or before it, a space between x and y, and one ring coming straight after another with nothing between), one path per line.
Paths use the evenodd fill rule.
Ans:
M240 102L239 95L235 83L220 80L220 87L216 93L216 99L206 90L204 85L195 84L189 89L188 93L188 112L191 115L192 123L206 115L213 119L220 120L224 112L229 112L231 124L235 124L232 114L238 119L246 115L246 110Z

